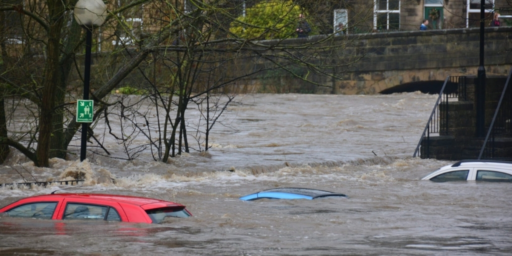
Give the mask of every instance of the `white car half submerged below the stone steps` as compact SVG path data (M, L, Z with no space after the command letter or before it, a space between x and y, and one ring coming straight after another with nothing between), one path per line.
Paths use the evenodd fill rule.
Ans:
M435 182L460 180L512 182L512 162L462 160L443 166L421 179Z

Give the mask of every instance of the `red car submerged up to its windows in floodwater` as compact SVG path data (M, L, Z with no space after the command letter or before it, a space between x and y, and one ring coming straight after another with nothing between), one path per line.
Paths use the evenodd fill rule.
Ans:
M52 220L104 220L160 223L166 217L192 216L184 205L144 197L106 194L50 194L0 208L10 217Z

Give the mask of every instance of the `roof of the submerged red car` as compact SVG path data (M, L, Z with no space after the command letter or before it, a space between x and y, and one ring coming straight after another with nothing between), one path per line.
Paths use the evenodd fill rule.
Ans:
M50 195L39 195L30 198L88 198L88 199L101 199L110 200L115 202L129 203L138 206L145 204L161 203L163 206L183 206L178 203L164 201L160 199L146 198L146 197L135 197L135 196L123 196L123 195L107 195L107 194L81 194L81 193L67 193L67 194L50 194Z

